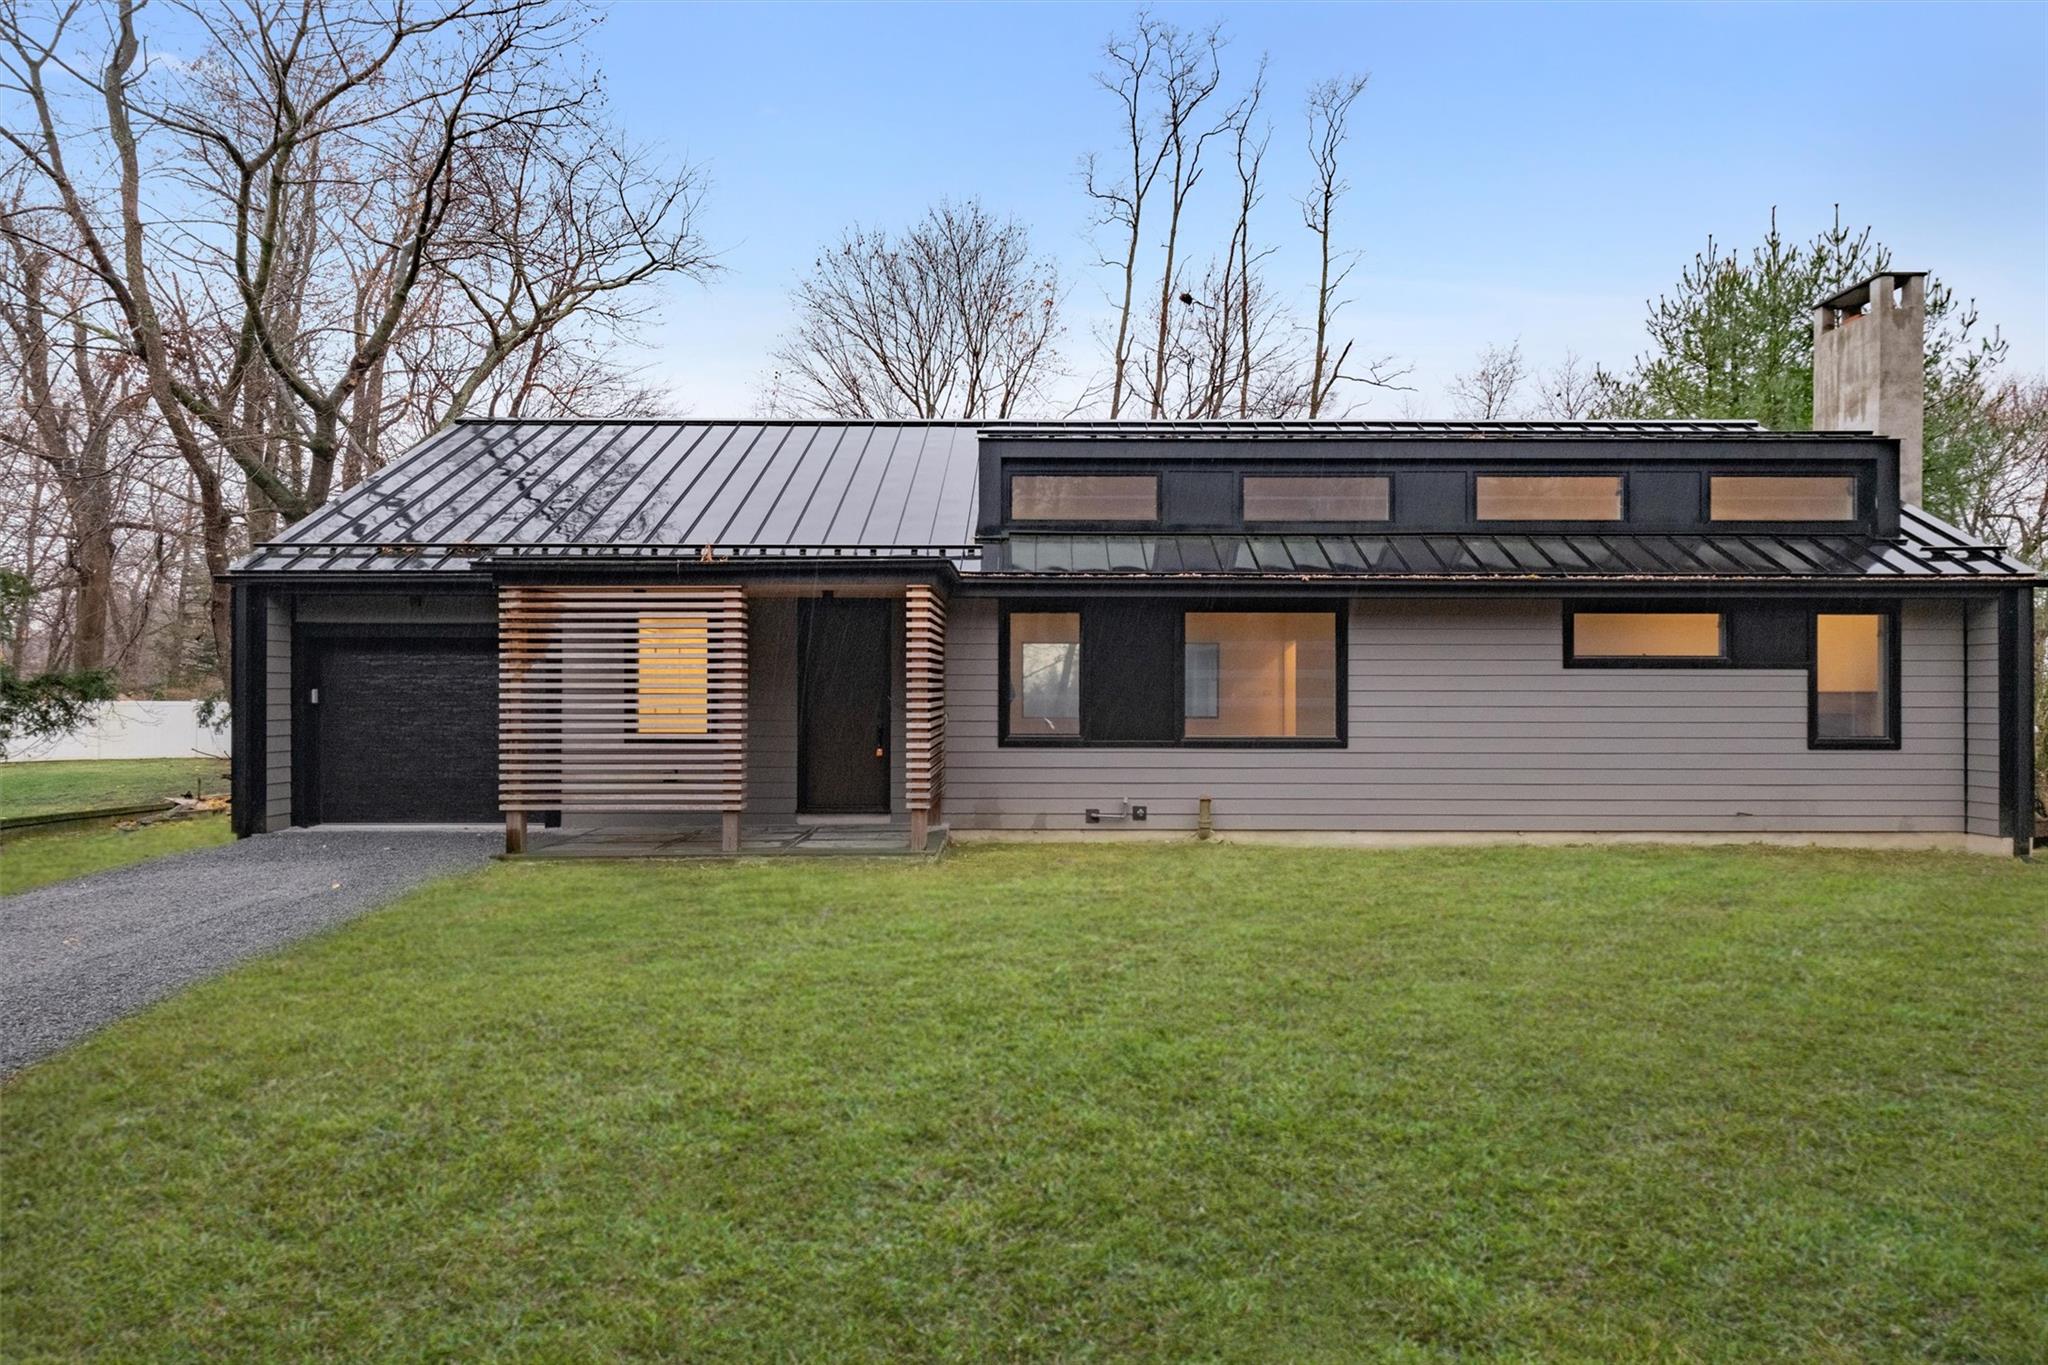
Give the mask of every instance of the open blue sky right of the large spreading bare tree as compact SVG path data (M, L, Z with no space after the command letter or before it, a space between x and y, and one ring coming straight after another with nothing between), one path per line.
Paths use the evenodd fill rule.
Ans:
M2048 362L2048 6L1157 6L1221 20L1227 72L1270 55L1260 231L1311 287L1292 194L1300 96L1370 72L1339 235L1362 252L1360 348L1415 364L1380 415L1448 409L1489 342L1624 362L1645 299L1708 233L1872 223L1903 266L1978 299L2013 362ZM727 274L678 289L651 377L698 415L752 411L791 282L844 225L979 194L1069 280L1069 366L1100 366L1077 162L1114 149L1094 88L1124 4L616 4L594 39L641 141L702 164ZM1214 180L1223 199L1223 168ZM1204 186L1206 188L1206 186ZM1200 196L1200 188L1196 190ZM1214 203L1217 213L1223 205ZM1200 229L1198 229L1200 231ZM1214 233L1221 246L1221 231Z

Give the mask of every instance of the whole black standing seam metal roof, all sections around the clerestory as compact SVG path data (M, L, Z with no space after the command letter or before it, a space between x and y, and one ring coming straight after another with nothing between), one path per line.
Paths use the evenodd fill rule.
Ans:
M1753 422L461 422L258 546L242 573L512 559L942 559L1036 575L1890 577L2032 569L1907 508L1829 534L1016 534L977 544L981 438L1817 440ZM1868 440L1866 436L1849 436Z

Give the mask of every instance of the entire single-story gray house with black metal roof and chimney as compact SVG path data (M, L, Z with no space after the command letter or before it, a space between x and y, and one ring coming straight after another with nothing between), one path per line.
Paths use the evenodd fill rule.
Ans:
M1817 309L1858 430L463 422L236 565L236 829L2023 853L2044 579L1915 505L1921 313Z

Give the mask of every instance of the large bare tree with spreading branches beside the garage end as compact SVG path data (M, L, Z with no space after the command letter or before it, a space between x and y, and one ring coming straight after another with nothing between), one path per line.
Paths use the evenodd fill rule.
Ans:
M0 2L29 113L0 137L104 297L96 340L141 368L215 579L238 499L270 534L375 469L393 417L424 434L514 358L514 393L551 366L590 387L629 291L709 270L694 172L629 151L563 59L575 0L186 0L203 41L160 68L141 10L109 0L96 45L84 0ZM225 675L223 589L209 618Z

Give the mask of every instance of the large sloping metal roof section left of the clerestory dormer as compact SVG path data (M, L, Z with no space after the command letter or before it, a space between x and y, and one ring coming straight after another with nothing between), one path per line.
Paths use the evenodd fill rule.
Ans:
M240 571L467 569L494 555L975 544L979 424L461 422Z

